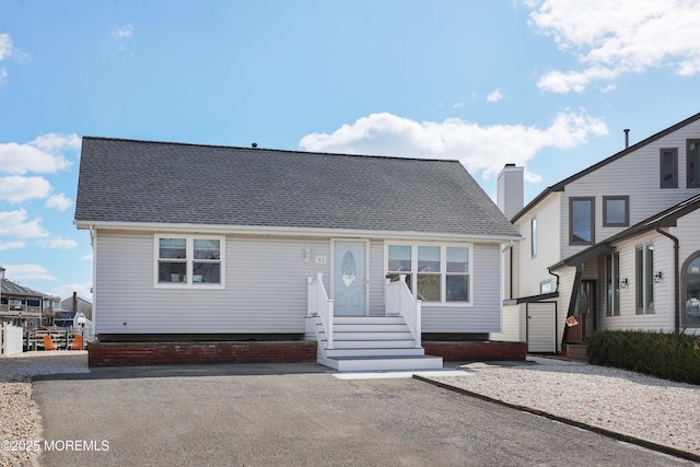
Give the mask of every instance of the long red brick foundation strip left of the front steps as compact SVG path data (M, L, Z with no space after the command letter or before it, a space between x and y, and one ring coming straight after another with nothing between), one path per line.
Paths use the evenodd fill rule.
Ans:
M315 362L316 342L90 342L89 366Z

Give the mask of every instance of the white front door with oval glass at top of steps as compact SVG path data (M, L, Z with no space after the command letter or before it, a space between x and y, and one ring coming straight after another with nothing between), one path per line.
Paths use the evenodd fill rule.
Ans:
M366 315L366 244L334 242L334 315Z

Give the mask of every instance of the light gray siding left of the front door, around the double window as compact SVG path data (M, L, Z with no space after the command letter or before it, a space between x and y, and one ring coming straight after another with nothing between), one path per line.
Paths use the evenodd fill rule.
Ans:
M150 233L100 233L96 332L302 334L306 277L324 272L328 287L328 264L313 262L329 257L328 241L228 236L224 290L155 289L153 243Z

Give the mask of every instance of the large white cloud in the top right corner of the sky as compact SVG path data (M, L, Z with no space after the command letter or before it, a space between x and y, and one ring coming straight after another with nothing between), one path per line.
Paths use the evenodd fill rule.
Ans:
M585 67L548 72L538 82L544 91L580 93L596 81L666 66L684 77L700 72L700 0L545 0L527 7L538 32Z

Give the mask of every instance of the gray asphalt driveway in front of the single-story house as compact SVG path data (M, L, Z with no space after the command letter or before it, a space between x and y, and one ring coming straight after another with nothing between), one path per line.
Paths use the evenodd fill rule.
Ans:
M315 364L42 376L42 466L691 465L411 378Z

